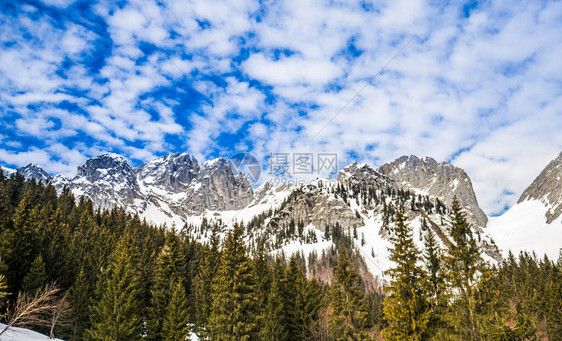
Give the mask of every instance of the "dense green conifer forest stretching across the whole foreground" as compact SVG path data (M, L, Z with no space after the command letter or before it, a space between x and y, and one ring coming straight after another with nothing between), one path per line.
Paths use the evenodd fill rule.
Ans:
M0 318L65 340L562 340L561 259L486 263L458 202L446 249L393 219L391 280L366 291L345 248L324 283L243 226L201 244L0 173Z

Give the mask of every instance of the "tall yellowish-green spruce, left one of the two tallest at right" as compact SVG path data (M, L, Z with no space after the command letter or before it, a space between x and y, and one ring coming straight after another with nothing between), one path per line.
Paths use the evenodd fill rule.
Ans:
M385 288L389 296L383 312L388 327L383 335L387 340L422 340L428 333L431 310L424 293L425 273L417 264L419 251L401 210L395 215L394 231L390 260L395 267L388 270L392 281Z

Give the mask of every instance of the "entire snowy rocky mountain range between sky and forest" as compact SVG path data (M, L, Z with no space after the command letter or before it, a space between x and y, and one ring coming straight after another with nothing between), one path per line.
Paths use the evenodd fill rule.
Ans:
M523 191L516 205L490 218L479 207L463 169L414 155L376 169L354 162L335 180L279 186L265 182L255 189L243 173L233 172L226 159L199 164L187 153L165 155L137 168L120 155L102 154L79 166L72 178L53 177L35 164L3 170L49 182L58 191L68 187L76 197L91 199L96 208L120 207L157 225L186 228L203 241L204 225L227 230L238 222L252 226L248 243L259 241L271 252L306 256L332 247L333 231L339 228L375 277L384 277L390 267L392 211L404 207L420 246L428 229L447 245L447 212L454 197L492 261L508 250L552 258L562 247L562 153Z

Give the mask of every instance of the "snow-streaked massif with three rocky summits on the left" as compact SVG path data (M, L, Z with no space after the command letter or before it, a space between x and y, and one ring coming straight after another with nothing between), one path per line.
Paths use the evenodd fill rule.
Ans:
M169 154L133 169L117 154L102 154L78 167L76 176L53 178L96 208L121 207L155 224L181 224L206 210L236 210L253 199L243 174L233 174L223 158L204 162L187 153Z

